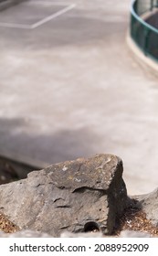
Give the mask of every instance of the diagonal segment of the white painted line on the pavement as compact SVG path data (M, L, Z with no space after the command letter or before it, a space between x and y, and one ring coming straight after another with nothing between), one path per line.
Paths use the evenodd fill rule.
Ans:
M58 11L56 14L53 14L51 16L47 16L46 18L38 21L37 23L35 23L34 25L31 26L32 29L37 28L45 23L47 23L48 21L56 18L57 16L61 16L65 13L67 13L68 11L70 11L71 9L73 9L76 5L69 5L68 7L65 7L64 9Z

